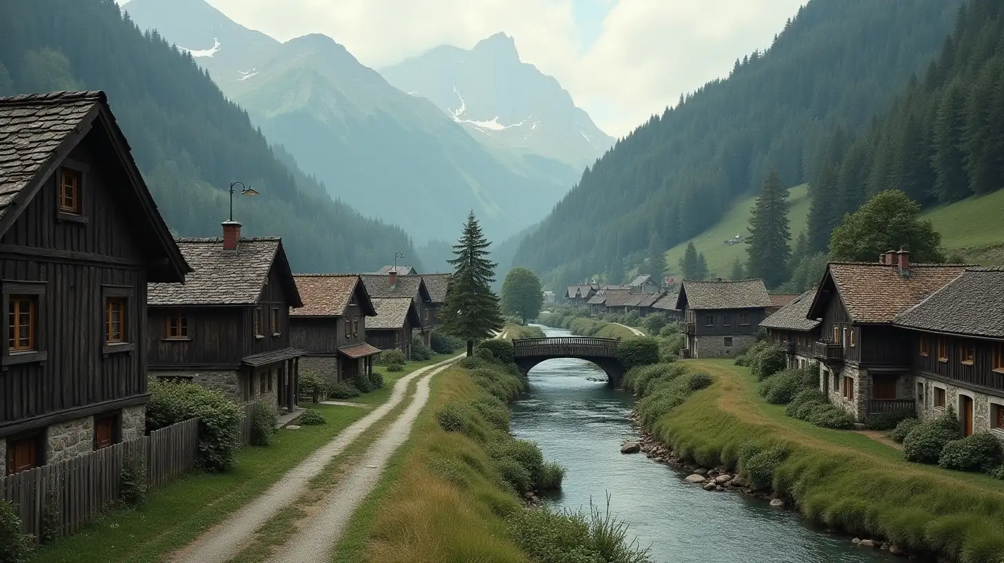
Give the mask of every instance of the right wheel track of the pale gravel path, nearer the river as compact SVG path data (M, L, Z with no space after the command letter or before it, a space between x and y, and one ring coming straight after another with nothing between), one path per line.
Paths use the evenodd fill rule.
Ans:
M366 496L376 487L391 455L408 439L412 425L429 401L429 381L449 366L442 366L419 380L415 398L408 409L373 443L341 483L324 499L323 505L300 530L275 550L271 563L327 563L331 550L341 539L345 526Z

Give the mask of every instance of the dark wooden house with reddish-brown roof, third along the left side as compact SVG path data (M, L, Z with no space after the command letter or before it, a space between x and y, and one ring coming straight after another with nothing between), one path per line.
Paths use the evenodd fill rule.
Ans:
M290 346L306 352L300 370L331 383L372 373L380 350L366 344L366 317L375 317L358 274L294 275L303 307L289 311Z

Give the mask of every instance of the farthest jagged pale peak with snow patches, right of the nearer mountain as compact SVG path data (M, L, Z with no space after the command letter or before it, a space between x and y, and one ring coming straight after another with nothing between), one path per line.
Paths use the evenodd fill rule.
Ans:
M504 33L470 50L439 46L381 74L429 99L489 146L543 156L575 171L613 146L557 80L520 61L515 41Z

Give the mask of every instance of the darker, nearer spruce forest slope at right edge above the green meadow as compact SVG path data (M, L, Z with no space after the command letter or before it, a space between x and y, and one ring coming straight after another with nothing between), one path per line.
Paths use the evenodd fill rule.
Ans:
M881 115L856 137L830 137L811 190L814 249L826 248L844 213L885 189L930 207L1004 187L1004 3L964 5L937 60Z

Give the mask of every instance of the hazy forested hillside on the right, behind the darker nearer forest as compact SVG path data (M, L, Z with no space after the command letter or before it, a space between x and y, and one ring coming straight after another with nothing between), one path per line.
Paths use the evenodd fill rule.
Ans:
M586 170L521 244L518 265L574 283L704 231L776 168L808 180L830 133L865 128L951 31L962 0L812 0L765 52L737 60ZM628 264L629 267L632 264Z

